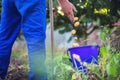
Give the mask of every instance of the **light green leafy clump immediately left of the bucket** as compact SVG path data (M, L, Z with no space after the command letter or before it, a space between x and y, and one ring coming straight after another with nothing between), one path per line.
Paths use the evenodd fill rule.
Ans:
M74 72L69 62L69 56L67 55L57 55L54 59L54 78L55 80L70 80Z

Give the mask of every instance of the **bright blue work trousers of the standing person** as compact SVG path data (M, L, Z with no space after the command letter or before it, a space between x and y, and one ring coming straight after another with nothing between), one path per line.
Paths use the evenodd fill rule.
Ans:
M46 1L2 0L0 78L7 75L11 49L22 29L28 47L30 80L47 80L45 68Z

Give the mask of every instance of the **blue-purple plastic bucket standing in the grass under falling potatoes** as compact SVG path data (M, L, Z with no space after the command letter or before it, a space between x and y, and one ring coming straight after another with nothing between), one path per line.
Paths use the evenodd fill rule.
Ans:
M94 63L98 64L98 55L99 55L99 46L98 45L88 45L69 48L71 62L74 68L77 68L79 71L86 71L86 66L83 66L81 62L86 62L87 64ZM76 60L73 55L80 57L81 61Z

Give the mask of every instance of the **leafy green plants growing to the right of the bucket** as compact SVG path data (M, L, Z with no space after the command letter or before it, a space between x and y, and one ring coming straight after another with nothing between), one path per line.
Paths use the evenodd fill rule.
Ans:
M111 48L109 35L112 30L104 28L101 31L103 45L100 48L98 65L90 64L87 68L96 75L97 80L120 79L120 52ZM89 76L89 75L88 75ZM91 76L89 76L90 78Z

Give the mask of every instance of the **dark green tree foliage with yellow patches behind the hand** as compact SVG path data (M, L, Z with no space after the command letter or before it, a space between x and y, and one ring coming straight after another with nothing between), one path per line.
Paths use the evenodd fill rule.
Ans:
M59 29L61 34L76 29L73 36L86 38L97 28L109 27L120 18L120 0L69 0L77 9L75 16L79 18L80 25L74 28L58 8L54 0L54 29Z

